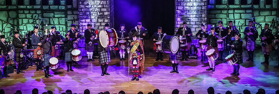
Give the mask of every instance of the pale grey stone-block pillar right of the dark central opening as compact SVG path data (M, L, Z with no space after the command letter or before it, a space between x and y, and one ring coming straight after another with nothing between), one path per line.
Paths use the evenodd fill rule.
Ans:
M201 24L207 24L208 0L175 0L175 32L183 27L183 21L191 28L193 35L200 29ZM192 37L194 38L194 37Z

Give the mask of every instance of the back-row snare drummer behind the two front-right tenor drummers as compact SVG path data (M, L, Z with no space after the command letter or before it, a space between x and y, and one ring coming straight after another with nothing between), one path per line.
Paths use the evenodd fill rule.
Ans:
M219 58L217 60L223 60L223 50L226 49L225 46L225 41L226 41L226 37L227 37L227 28L223 27L223 22L222 21L218 21L218 27L215 28L215 32L217 32L220 36L218 36L218 39L223 40L223 47L222 48L218 48L219 51Z

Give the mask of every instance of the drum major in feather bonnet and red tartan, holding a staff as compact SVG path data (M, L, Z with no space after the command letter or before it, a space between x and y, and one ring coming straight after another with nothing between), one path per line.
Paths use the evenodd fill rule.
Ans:
M128 47L127 52L130 53L130 64L129 66L132 67L133 71L133 78L131 79L138 81L138 75L143 74L143 66L144 66L144 50L143 50L143 44L141 40L137 40L138 33L135 29L132 29L129 32L129 37L132 40L128 41ZM141 70L139 67L141 66Z

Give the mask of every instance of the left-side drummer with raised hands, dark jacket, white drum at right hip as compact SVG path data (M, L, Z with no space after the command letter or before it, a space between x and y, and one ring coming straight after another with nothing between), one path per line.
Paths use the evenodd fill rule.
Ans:
M75 38L70 38L70 32L68 32L66 35L65 35L65 40L63 41L64 42L64 53L65 53L65 61L66 61L66 64L67 64L67 72L69 71L74 71L72 69L72 50L74 50L74 46L73 46L73 42L77 42L77 35L78 33L75 33ZM70 69L69 69L69 66L70 66Z

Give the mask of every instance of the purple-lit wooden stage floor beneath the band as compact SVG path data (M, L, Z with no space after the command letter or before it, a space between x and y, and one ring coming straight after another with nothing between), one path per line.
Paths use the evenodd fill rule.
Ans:
M39 89L39 94L47 90L55 94L61 94L67 89L73 93L83 93L89 89L91 94L109 91L111 94L124 90L127 94L136 94L142 91L144 94L160 89L161 94L170 94L172 90L178 89L181 94L187 94L193 89L195 94L207 94L208 87L215 89L215 94L225 94L227 90L233 94L242 93L244 89L255 94L257 89L263 88L267 94L275 93L279 89L279 69L273 68L277 65L277 56L271 53L270 65L260 64L264 60L261 49L255 50L254 62L245 61L248 57L247 50L244 50L244 63L240 66L240 75L231 76L233 66L228 66L225 61L216 62L216 71L207 71L207 61L201 62L198 59L179 62L179 73L170 73L172 70L169 54L164 54L164 61L155 61L156 53L153 51L153 41L145 40L145 63L144 75L139 81L131 81L132 71L128 77L128 58L126 61L119 61L119 57L111 57L108 66L108 73L111 75L101 76L101 66L98 59L86 62L87 57L82 57L78 64L73 65L73 72L67 72L64 60L59 60L60 67L50 70L54 77L45 78L44 71L36 71L36 66L30 66L25 73L10 73L11 77L0 80L0 89L6 94L13 94L21 90L22 94L31 94L32 89ZM228 50L224 51L225 58ZM127 57L127 55L126 55ZM129 83L128 83L129 81Z

